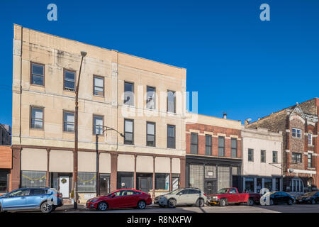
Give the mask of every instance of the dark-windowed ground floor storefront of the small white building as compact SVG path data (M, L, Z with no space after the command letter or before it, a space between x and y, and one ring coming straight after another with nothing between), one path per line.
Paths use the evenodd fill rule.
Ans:
M255 176L245 175L242 177L242 189L244 192L259 193L267 188L270 192L282 191L283 180L281 176Z

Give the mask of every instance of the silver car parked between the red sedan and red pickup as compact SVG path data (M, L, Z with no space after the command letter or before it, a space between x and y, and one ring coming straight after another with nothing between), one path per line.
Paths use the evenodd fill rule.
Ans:
M156 204L159 206L168 206L174 208L177 205L196 205L198 207L204 206L207 201L206 194L197 188L176 189L168 194L157 196L155 198Z

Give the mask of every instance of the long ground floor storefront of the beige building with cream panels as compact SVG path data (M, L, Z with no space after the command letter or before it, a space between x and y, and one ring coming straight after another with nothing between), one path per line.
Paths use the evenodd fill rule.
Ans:
M13 189L53 187L73 197L73 150L39 146L13 147ZM138 189L152 197L184 187L185 157L99 150L78 152L80 202L116 189Z

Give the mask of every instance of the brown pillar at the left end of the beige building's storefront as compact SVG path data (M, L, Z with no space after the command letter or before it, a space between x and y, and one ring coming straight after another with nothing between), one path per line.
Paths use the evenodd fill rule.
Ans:
M11 190L20 188L21 150L22 148L12 148Z

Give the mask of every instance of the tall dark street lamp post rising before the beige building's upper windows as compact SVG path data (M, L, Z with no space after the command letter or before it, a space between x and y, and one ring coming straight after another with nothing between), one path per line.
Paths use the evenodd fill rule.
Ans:
M75 87L75 113L74 113L74 153L73 153L73 192L74 192L74 209L77 209L77 146L78 146L78 111L79 111L79 81L81 77L81 69L82 69L82 62L83 58L86 56L86 52L81 51L81 64L79 69L79 79L77 80L77 86Z

